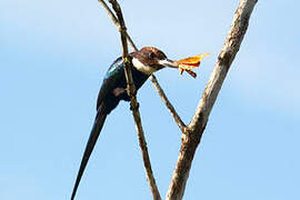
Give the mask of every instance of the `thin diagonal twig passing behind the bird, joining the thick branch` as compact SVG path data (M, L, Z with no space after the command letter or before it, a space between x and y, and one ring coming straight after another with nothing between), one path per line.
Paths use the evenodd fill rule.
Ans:
M104 8L104 10L107 11L108 16L110 17L110 19L112 20L112 22L116 24L116 27L118 29L120 29L120 23L118 21L118 19L116 18L116 16L113 14L113 12L110 10L110 8L107 6L107 3L103 0L98 0L102 7ZM133 41L131 40L130 36L128 34L128 32L126 32L127 36L127 40L130 44L130 47L133 49L133 51L138 51L138 48L134 46ZM152 83L154 84L156 89L159 92L159 96L161 97L162 101L166 103L168 110L171 112L172 117L174 118L174 121L177 122L178 127L180 128L181 131L184 130L186 126L182 122L182 120L180 119L179 114L177 113L176 109L173 108L172 103L168 100L167 96L164 94L162 88L160 87L157 78L154 74L150 76L150 80L152 81ZM172 109L170 109L170 107Z

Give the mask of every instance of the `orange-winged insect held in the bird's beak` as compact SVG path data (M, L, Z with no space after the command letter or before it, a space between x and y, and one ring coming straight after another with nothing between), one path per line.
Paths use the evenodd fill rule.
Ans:
M187 71L190 76L193 78L197 77L197 73L192 71L192 69L197 68L200 66L200 60L209 56L210 53L202 53L198 54L196 57L189 57L184 58L181 60L178 60L177 62L179 63L179 73L182 74L183 71Z

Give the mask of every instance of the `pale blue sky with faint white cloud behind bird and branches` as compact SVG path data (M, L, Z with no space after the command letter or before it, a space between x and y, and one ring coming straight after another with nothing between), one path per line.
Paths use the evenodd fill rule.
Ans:
M197 79L157 77L189 122L230 28L237 0L120 1L138 47L171 59L210 52ZM299 1L260 0L194 157L187 200L300 199ZM66 200L119 33L97 0L0 0L0 200ZM161 196L180 131L152 83L140 111ZM151 199L129 104L107 119L78 200Z

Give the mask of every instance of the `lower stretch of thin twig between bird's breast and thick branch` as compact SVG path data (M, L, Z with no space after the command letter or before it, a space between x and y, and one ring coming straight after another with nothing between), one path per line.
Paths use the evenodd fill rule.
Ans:
M170 103L170 101L168 100L168 98L167 98L166 93L163 92L163 90L160 88L157 78L153 76L153 77L150 77L150 80L152 81L152 83L154 84L156 89L158 90L158 93L161 97L161 99L164 102L164 104L167 106L168 110L170 111L170 113L174 118L174 121L177 122L179 129L182 132L186 132L186 124L183 123L183 121L178 116L177 111L174 110L174 108Z

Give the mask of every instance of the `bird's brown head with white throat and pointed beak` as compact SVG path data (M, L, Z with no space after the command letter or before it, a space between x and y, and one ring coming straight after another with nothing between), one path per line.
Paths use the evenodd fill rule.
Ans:
M164 67L178 68L176 61L168 59L161 50L154 47L144 47L131 56L133 67L146 74L152 74Z

